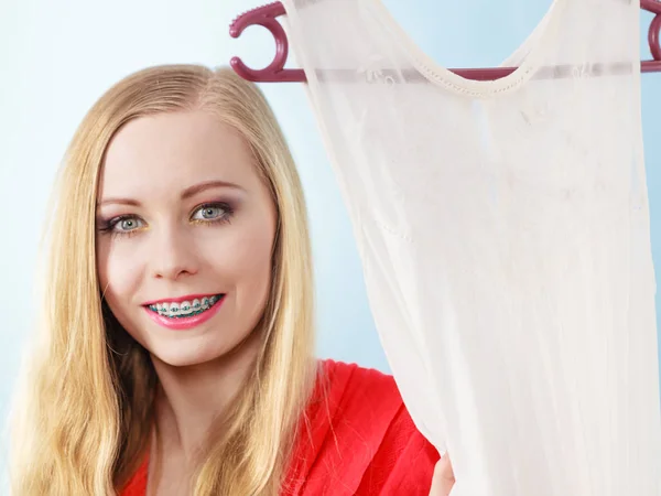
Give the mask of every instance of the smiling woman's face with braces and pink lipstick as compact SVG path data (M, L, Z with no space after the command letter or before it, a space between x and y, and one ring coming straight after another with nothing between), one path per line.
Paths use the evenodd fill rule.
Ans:
M158 359L187 366L242 342L262 316L277 214L243 139L204 111L116 134L97 198L101 291Z

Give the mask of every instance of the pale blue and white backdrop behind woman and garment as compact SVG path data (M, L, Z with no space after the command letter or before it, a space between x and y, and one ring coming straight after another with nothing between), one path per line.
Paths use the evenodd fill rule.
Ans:
M264 1L266 2L266 1ZM0 419L31 332L34 262L53 174L85 111L109 85L152 64L256 67L270 34L227 26L256 0L14 0L0 15ZM384 0L412 37L446 66L500 63L551 0ZM598 15L598 12L595 14ZM650 17L643 18L647 28ZM643 44L641 33L641 46ZM294 62L295 63L295 62ZM305 184L316 259L318 352L388 370L365 294L351 228L300 84L264 84ZM643 120L652 244L661 266L661 74L643 76ZM658 300L659 301L659 300ZM0 465L4 445L0 445ZM0 473L3 472L0 466ZM0 489L0 494L7 494Z

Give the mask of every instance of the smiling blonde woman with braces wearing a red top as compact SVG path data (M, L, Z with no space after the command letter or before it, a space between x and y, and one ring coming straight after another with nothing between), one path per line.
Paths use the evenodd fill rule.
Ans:
M14 496L449 494L391 377L313 358L303 192L254 85L124 78L56 192Z

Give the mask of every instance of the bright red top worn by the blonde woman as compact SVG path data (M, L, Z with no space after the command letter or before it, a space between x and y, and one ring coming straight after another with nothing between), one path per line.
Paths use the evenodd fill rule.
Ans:
M282 496L429 496L440 456L420 434L391 376L323 362ZM324 391L325 390L325 391ZM324 395L326 400L324 400ZM121 496L144 496L145 460Z

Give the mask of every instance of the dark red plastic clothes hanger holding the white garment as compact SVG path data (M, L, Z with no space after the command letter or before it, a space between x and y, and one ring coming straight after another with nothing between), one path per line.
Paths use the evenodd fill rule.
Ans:
M648 33L648 42L650 45L650 52L652 53L651 61L642 61L640 63L640 69L643 73L659 73L661 72L661 44L659 43L659 33L661 32L661 1L660 0L640 0L640 8L654 14ZM275 18L286 14L284 6L277 1L267 6L258 7L257 9L249 10L236 18L229 26L229 34L232 37L239 37L246 28L251 25L261 25L268 29L275 40L275 57L273 61L262 69L252 69L248 67L240 57L232 57L230 61L231 67L235 72L243 79L260 82L260 83L294 83L306 82L305 72L299 68L284 68L286 57L289 55L289 41L286 33L282 25ZM626 67L622 65L621 67ZM451 69L467 79L475 80L492 80L511 74L516 67L487 67L487 68L462 68ZM554 77L563 72L567 75L572 74L571 67L549 67L548 72L552 72ZM593 71L599 72L599 67L593 67ZM602 67L600 71L608 71L610 74L617 71L617 67L609 64L608 67ZM543 74L544 69L540 73ZM326 72L327 73L327 72ZM337 69L333 71L334 75L342 78L343 75L349 77L353 74L351 71ZM327 77L327 75L326 75ZM422 78L423 76L416 72L405 73L407 79Z

